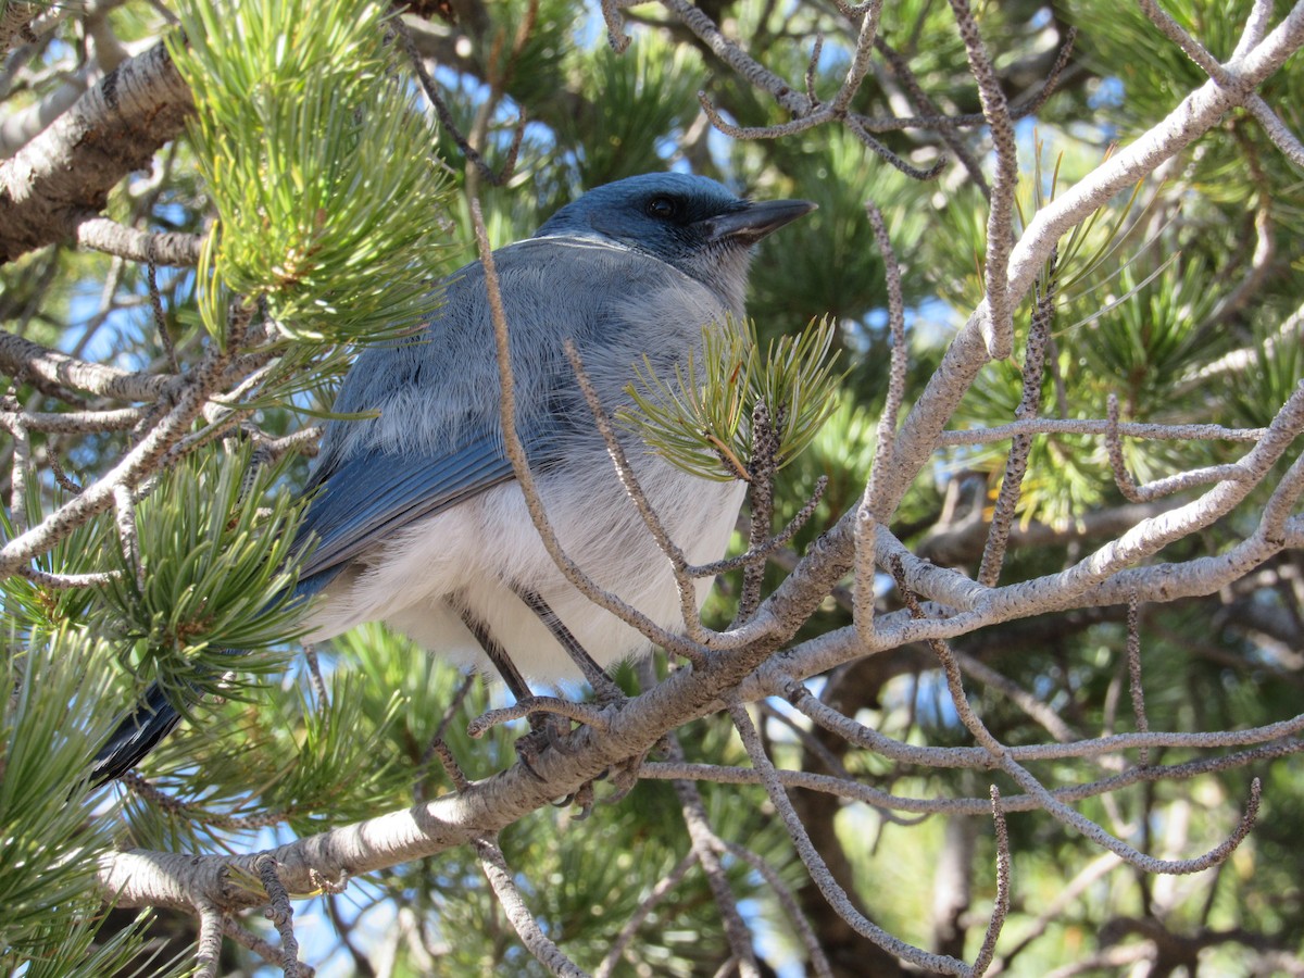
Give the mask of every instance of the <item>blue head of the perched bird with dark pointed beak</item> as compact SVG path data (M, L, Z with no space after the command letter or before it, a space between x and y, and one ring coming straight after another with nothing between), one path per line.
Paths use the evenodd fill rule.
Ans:
M810 201L746 201L690 173L644 173L589 190L557 211L536 237L591 237L673 265L742 309L750 250L815 209Z

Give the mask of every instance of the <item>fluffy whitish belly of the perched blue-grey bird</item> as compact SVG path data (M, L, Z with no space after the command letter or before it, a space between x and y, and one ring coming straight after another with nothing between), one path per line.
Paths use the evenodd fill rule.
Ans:
M567 469L576 466L567 463ZM720 559L746 493L743 482L711 482L660 459L636 463L640 484L670 537L691 563ZM599 587L669 631L683 630L669 559L643 524L605 456L583 467L578 492L539 479L549 522L567 556ZM569 477L569 476L567 476ZM696 582L696 606L711 589ZM645 652L651 643L595 605L554 565L526 510L520 486L496 486L420 520L355 561L323 592L309 617L312 639L383 619L422 647L464 668L489 661L462 621L488 625L527 679L578 681L579 670L512 587L540 595L600 665Z

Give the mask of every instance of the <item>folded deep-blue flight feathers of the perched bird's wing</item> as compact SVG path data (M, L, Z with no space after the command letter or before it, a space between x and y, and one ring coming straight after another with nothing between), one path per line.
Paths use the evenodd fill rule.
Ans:
M370 450L335 467L308 503L297 542L313 542L299 571L313 595L377 541L512 479L501 438L434 456Z

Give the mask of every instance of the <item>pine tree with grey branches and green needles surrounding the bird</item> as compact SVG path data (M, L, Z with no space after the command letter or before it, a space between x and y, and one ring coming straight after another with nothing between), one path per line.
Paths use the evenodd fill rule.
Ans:
M0 40L7 974L1299 973L1304 4L9 0ZM295 489L471 201L497 246L672 168L819 203L614 419L746 473L759 556L539 782L468 732L497 687L300 644ZM185 721L93 788L153 682Z

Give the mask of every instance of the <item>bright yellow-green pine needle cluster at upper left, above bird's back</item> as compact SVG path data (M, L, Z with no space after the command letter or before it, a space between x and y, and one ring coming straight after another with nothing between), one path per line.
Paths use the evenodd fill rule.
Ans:
M368 342L432 310L450 192L372 0L184 0L168 50L218 210L200 309L233 295L286 336Z

